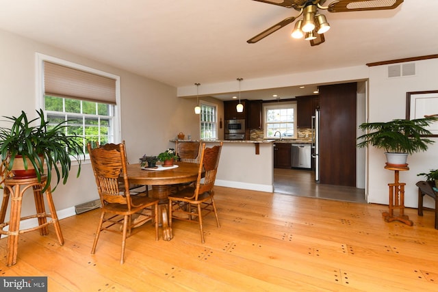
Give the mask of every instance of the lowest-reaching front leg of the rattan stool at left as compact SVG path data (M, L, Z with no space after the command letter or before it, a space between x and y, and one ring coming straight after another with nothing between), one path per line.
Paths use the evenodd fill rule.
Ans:
M23 192L20 190L20 185L16 185L15 189L7 186L11 199L10 210L10 224L8 231L8 254L6 256L6 265L10 267L16 264L16 254L18 252L18 232L20 229L20 214L21 214L21 200L23 199Z

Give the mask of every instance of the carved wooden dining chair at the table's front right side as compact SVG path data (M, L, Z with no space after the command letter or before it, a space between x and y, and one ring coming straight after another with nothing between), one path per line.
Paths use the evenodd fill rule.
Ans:
M214 183L218 172L220 151L222 142L211 148L205 148L202 144L201 158L198 169L196 187L185 187L169 198L169 225L172 227L172 220L179 219L191 222L198 222L201 230L201 242L204 240L203 216L214 212L216 224L220 227L218 210L214 203ZM204 179L201 183L201 179Z

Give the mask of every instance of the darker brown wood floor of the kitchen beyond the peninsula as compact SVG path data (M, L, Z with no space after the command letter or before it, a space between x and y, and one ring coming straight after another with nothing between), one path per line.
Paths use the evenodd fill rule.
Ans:
M274 168L274 191L311 198L366 202L365 189L315 183L315 172L313 170Z

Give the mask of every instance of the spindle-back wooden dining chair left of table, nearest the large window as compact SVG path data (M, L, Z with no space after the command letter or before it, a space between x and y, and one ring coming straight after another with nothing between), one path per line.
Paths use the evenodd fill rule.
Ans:
M125 261L125 243L131 235L131 229L153 219L155 240L158 240L158 200L145 196L131 196L127 174L125 146L107 149L103 146L92 148L88 142L88 152L96 178L97 190L101 199L101 217L94 236L91 253L96 252L101 231L107 230L122 234L122 252L120 263ZM120 191L120 177L123 178L124 191ZM144 213L143 211L147 210ZM134 222L131 216L138 214L142 220ZM122 228L119 228L122 226Z

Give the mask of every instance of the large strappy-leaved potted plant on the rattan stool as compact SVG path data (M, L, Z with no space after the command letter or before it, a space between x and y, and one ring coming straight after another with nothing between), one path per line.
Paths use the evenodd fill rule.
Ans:
M4 117L8 119L6 122L12 122L12 125L0 127L1 160L7 161L8 170L12 171L14 178L36 177L41 182L41 177L47 176L47 183L42 191L49 187L52 174L55 172L55 190L61 178L64 184L68 179L71 157L78 162L79 176L80 156L83 156L82 138L66 133L68 121L50 124L45 120L42 109L36 112L38 118L32 120L27 118L24 111L17 117ZM44 168L44 163L47 169Z

